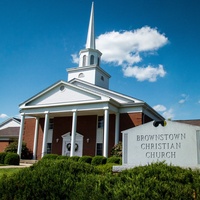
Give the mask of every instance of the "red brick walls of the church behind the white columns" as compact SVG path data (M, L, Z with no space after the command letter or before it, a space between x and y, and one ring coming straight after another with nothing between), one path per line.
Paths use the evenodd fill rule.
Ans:
M83 155L94 156L96 154L96 131L97 131L97 115L78 116L77 117L77 132L83 135ZM151 120L144 117L143 113L123 113L120 114L120 133L121 131L138 126L144 122ZM52 138L52 153L62 154L62 135L71 132L72 117L55 117L53 119L53 138ZM38 141L37 141L37 159L41 158L42 141L44 130L44 118L39 121ZM26 142L29 150L33 151L35 132L35 119L27 118L25 120L23 140ZM89 142L87 142L89 139ZM122 140L119 134L119 141ZM109 116L109 147L110 154L115 141L115 115Z

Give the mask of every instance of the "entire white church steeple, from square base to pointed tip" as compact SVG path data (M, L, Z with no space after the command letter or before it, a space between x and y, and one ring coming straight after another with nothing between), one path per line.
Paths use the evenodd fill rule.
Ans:
M68 81L78 78L108 89L111 76L100 67L101 55L102 53L96 49L95 44L94 2L92 2L85 49L79 52L79 66L67 69Z

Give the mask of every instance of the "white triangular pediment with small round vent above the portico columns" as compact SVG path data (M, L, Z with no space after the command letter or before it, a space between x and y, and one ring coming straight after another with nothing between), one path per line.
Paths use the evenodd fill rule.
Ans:
M100 100L101 96L61 81L25 102L25 106L67 104Z

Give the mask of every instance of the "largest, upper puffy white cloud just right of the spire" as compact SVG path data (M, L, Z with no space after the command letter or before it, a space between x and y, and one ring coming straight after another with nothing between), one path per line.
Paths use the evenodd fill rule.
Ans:
M100 35L96 40L102 60L116 65L133 65L142 60L140 52L152 52L167 44L168 39L157 29L148 26L135 31L112 31Z

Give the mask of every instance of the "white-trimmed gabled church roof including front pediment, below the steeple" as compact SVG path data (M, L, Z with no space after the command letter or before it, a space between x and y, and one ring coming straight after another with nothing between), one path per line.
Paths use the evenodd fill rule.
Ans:
M33 109L38 109L36 111L39 113L47 107L52 112L55 112L55 109L56 111L62 111L62 109L66 111L72 107L84 110L88 109L88 106L92 106L90 110L91 108L93 110L104 103L109 103L114 111L124 109L123 112L128 112L129 110L139 109L153 118L164 120L159 113L142 100L76 78L69 82L56 82L20 104L20 109L21 112L24 111L30 114L34 114Z

